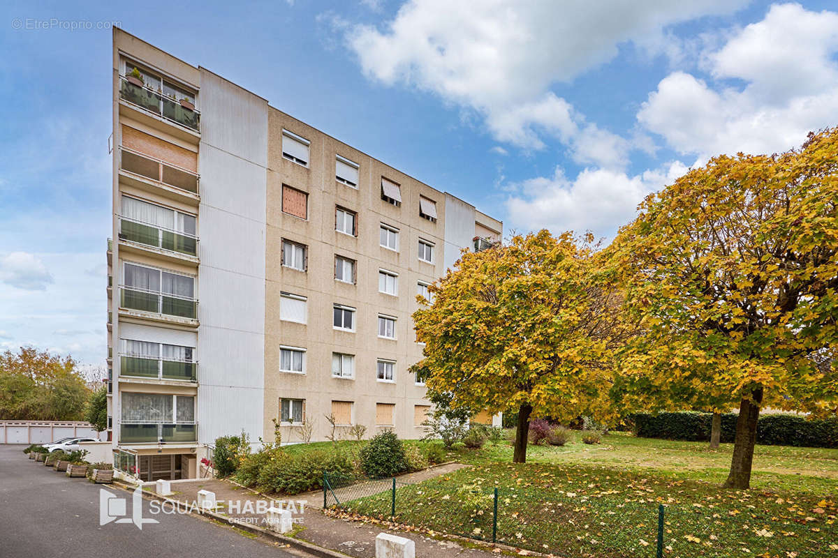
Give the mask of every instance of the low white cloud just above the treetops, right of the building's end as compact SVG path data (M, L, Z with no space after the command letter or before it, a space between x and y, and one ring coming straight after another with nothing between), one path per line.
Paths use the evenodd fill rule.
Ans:
M556 167L553 177L538 177L517 185L506 201L509 226L521 232L549 228L555 233L592 231L611 237L634 218L638 203L649 193L675 181L686 171L680 161L629 177L622 171L585 169L573 180Z

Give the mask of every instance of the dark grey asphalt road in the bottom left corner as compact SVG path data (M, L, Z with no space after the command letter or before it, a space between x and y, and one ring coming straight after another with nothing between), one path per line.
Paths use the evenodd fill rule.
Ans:
M0 444L0 556L178 556L178 558L299 558L297 550L277 548L266 538L251 539L227 526L191 515L152 514L142 500L143 517L158 524L99 525L102 484L70 479L44 463L35 463L21 451L25 446ZM126 499L131 494L107 488ZM118 509L118 505L116 506Z

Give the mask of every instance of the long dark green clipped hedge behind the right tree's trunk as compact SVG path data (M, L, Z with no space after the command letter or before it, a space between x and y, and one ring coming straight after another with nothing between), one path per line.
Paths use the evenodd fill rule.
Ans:
M722 442L732 443L737 414L722 414ZM665 438L688 442L710 440L710 412L661 412L630 415L632 431L640 438ZM765 445L838 448L838 419L807 420L797 415L772 414L759 417L757 443Z

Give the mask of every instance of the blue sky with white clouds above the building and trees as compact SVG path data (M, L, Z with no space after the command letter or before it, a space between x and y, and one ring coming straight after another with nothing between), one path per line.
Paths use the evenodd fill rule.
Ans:
M838 124L830 9L4 2L0 349L32 344L104 366L111 31L102 23L473 202L507 230L612 238L645 195L688 167L717 153L785 151Z

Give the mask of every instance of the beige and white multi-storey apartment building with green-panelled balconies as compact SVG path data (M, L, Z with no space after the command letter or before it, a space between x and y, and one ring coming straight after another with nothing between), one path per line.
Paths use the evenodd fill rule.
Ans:
M275 424L420 437L416 294L503 223L120 29L113 122L117 468L194 478L215 438Z

